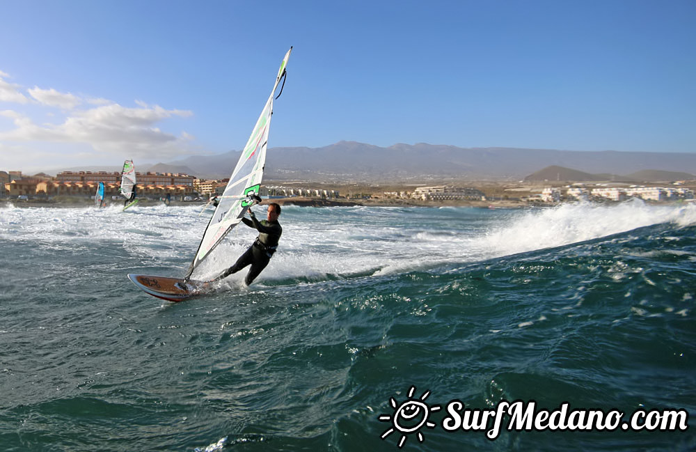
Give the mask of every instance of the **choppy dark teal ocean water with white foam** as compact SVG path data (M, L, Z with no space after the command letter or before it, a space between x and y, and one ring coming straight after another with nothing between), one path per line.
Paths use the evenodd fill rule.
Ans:
M184 274L199 212L0 210L0 451L696 449L696 426L443 428L454 400L693 423L696 205L288 206L251 287L174 304L133 286ZM395 428L408 400L427 425Z

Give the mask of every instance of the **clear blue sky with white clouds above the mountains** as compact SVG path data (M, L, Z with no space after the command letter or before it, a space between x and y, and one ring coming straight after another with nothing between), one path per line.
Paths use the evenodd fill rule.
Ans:
M341 140L696 152L696 1L0 0L0 169Z

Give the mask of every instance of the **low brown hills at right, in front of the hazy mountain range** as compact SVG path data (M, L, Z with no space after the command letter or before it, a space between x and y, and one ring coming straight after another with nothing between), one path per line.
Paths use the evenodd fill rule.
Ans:
M696 176L690 173L680 173L676 171L659 171L646 169L643 171L637 171L635 173L628 174L626 176L619 176L617 174L590 174L583 173L583 171L577 171L570 168L564 168L562 166L546 166L546 168L532 173L525 177L525 182L533 181L565 181L565 182L593 182L599 180L614 180L616 182L672 182L674 180L694 180Z

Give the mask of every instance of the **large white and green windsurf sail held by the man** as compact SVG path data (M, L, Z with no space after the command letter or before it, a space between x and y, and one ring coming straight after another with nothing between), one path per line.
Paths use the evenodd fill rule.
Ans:
M268 132L271 125L271 114L273 114L274 95L278 84L280 84L280 79L283 79L283 84L285 84L285 66L287 59L290 58L290 52L292 52L292 47L280 63L271 95L269 95L266 105L256 121L251 136L242 150L242 155L239 156L237 166L230 176L230 182L225 187L223 194L219 196L219 204L205 229L205 233L203 233L203 239L200 240L196 256L193 256L193 261L186 274L187 279L193 270L196 270L196 267L220 244L223 238L232 231L232 228L237 226L239 221L242 221L242 217L253 203L251 196L258 196L260 192L266 162ZM283 92L282 86L280 92ZM280 97L280 93L278 93L278 97Z

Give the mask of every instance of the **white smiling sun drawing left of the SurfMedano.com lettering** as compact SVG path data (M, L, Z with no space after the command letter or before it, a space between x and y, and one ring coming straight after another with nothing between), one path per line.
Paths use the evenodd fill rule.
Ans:
M389 403L394 409L394 414L381 414L379 420L382 422L391 422L392 427L382 433L381 439L386 439L395 431L402 433L401 439L397 446L401 449L406 442L408 435L416 433L418 442L423 442L423 434L420 429L425 426L427 428L435 428L435 424L428 420L430 412L440 410L439 405L429 407L424 400L430 395L430 391L425 391L420 398L413 398L413 393L416 392L416 387L411 386L409 389L409 398L399 405L393 397L389 398Z

